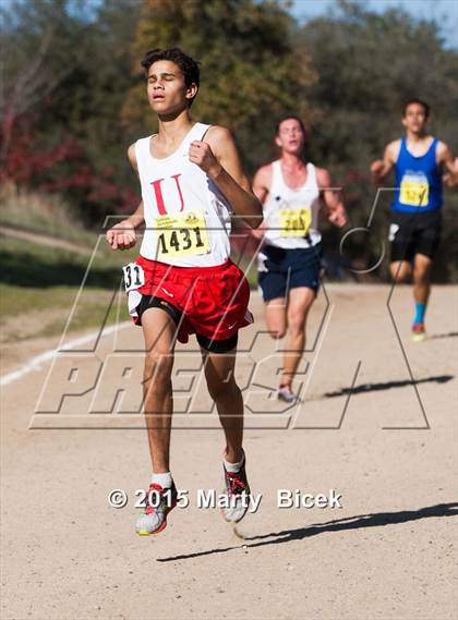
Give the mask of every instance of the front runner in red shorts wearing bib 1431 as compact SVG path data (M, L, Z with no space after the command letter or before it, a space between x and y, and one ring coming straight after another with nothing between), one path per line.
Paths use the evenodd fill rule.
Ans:
M129 309L145 338L144 409L153 462L152 502L136 524L157 534L177 503L170 473L171 372L178 338L197 336L208 391L226 435L224 472L230 507L240 521L250 487L242 449L243 401L234 380L238 329L252 321L250 290L229 258L232 211L250 227L262 221L230 132L194 123L190 107L198 90L197 63L181 50L153 50L142 61L149 105L159 132L129 148L142 185L133 216L107 233L113 250L132 247L146 222L141 256L124 268Z

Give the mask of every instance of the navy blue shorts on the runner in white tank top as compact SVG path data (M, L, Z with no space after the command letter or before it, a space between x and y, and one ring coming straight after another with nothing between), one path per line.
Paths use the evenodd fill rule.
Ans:
M290 289L305 287L318 292L322 266L322 244L312 247L285 250L265 245L262 254L266 256L258 270L258 284L265 302L286 297Z

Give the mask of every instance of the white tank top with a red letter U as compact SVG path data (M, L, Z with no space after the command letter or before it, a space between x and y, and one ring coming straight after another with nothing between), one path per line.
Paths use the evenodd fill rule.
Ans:
M150 154L153 136L135 143L146 222L140 254L145 258L177 267L215 267L229 257L232 208L188 155L191 142L202 141L209 126L195 123L164 159Z

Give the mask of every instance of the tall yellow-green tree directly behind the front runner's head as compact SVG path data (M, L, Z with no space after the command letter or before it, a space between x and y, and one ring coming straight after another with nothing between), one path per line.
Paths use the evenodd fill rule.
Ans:
M291 45L293 26L273 0L148 0L133 45L135 68L156 47L180 47L201 62L192 114L229 126L253 172L270 150L276 120L309 111L315 75L308 52ZM130 93L123 118L144 133L152 129L144 80Z

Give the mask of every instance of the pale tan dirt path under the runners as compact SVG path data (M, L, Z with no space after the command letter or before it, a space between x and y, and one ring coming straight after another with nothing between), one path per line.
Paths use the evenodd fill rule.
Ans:
M280 356L265 335L254 340L264 324L253 297L257 323L243 331L238 377L248 471L263 499L238 527L244 540L217 510L196 507L198 488L221 487L222 436L215 415L202 413L208 401L192 355L177 355L177 409L191 413L177 414L172 436L172 471L191 506L176 509L157 538L134 534L133 494L147 483L149 462L141 417L122 413L137 404L140 388L129 381L141 368L140 330L103 338L97 357L61 354L51 386L48 365L5 387L2 618L456 619L457 290L434 289L431 338L419 344L409 341L409 289L397 289L390 304L400 341L387 287L327 293L327 312L321 293L311 317L302 402L282 412L269 398ZM62 385L94 385L98 360L106 364L96 397L91 390L67 398L53 417L33 416L44 386L40 406L49 411ZM119 385L120 413L87 413L106 411ZM108 504L113 488L130 496L122 510ZM279 488L336 489L342 508L279 509Z

